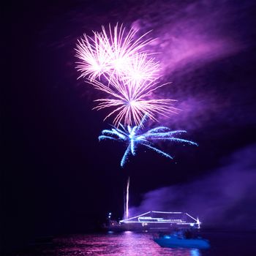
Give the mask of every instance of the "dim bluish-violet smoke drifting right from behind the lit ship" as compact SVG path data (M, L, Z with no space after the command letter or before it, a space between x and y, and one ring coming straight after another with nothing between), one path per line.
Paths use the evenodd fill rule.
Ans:
M203 225L256 227L256 144L237 151L210 175L143 195L130 216L145 211L185 211Z

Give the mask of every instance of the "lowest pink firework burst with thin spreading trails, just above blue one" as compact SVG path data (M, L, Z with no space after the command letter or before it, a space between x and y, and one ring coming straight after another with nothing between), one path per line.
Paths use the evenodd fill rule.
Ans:
M145 114L152 120L157 120L157 115L168 116L176 113L173 108L174 99L151 99L154 91L170 83L159 84L157 79L144 81L143 83L131 83L131 81L120 82L116 78L105 85L97 80L90 82L95 89L104 91L110 95L110 99L96 99L98 103L94 109L102 110L110 108L110 113L105 117L115 116L113 124L118 127L120 123L124 126L140 124L140 120ZM105 120L104 119L104 120Z

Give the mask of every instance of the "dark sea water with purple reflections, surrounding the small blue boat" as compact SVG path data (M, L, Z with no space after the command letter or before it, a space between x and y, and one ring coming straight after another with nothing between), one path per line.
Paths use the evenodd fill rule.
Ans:
M111 255L111 256L143 256L143 255L172 255L172 256L250 256L256 255L255 232L204 232L211 244L210 249L162 248L154 242L157 234L135 233L95 233L72 235L53 238L50 243L37 244L26 252L15 255Z

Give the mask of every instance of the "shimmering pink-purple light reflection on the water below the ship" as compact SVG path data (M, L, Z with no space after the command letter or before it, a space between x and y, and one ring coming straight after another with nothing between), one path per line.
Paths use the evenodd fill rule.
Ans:
M108 233L59 238L58 255L173 255L199 256L198 249L162 248L149 233Z

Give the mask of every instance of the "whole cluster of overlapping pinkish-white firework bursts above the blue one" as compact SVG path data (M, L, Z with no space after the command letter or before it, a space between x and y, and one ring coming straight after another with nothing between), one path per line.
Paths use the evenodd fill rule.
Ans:
M133 126L140 124L145 113L152 120L157 115L168 116L176 113L173 99L155 99L154 91L170 83L157 83L159 64L154 58L148 58L143 48L152 40L142 37L135 39L138 31L131 29L125 35L125 28L116 25L112 31L109 26L109 36L102 26L102 32L94 32L94 37L83 36L78 40L77 57L80 77L87 77L88 83L95 89L103 91L110 98L97 99L94 108L102 110L109 108L105 117L115 116L113 124ZM102 83L101 76L108 83ZM97 80L98 79L98 80ZM154 99L152 99L154 98ZM104 120L105 120L104 119Z

